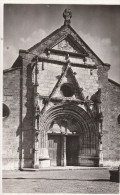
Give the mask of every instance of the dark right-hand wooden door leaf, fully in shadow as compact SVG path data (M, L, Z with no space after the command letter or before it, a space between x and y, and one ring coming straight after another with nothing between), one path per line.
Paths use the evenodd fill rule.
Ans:
M78 166L79 137L66 137L66 159L67 166Z

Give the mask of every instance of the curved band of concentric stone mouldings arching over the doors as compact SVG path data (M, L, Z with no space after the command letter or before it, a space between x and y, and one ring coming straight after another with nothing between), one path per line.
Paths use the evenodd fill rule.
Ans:
M53 120L65 116L75 118L84 126L84 131L96 132L94 119L83 108L74 104L59 104L47 110L40 118L40 131L48 131Z

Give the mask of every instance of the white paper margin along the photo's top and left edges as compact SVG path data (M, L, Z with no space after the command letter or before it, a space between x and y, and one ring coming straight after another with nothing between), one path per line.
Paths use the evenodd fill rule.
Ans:
M120 0L0 0L0 156L2 157L2 95L3 95L3 6L4 4L79 4L120 5ZM2 158L1 158L2 159ZM2 161L0 160L0 192L2 194ZM119 186L120 191L120 186ZM6 193L4 193L6 194ZM9 194L9 193L8 193ZM30 193L32 194L32 193ZM36 193L37 194L37 193ZM41 193L42 194L42 193ZM55 194L55 193L54 193Z

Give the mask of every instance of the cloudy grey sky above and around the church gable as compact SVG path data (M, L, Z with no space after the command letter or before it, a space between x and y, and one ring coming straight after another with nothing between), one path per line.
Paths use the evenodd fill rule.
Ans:
M71 26L104 63L109 78L120 83L120 5L5 4L3 68L12 66L19 49L29 49L63 23L72 11Z

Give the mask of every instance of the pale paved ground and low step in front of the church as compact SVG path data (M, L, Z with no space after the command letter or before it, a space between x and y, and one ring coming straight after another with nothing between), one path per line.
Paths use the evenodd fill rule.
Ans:
M108 169L3 171L3 193L118 194Z

